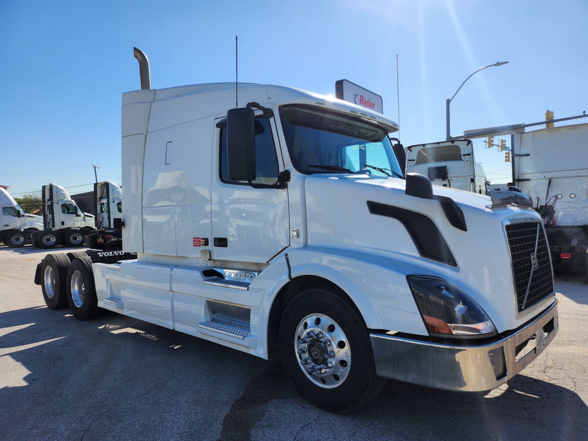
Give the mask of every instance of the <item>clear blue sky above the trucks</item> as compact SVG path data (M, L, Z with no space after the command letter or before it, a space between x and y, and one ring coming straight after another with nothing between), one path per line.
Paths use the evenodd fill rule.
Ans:
M0 0L0 185L91 191L92 165L120 183L133 46L152 88L235 81L238 35L239 81L334 94L348 79L382 95L407 146L445 139L446 98L497 61L453 98L452 135L588 110L587 22L586 0ZM503 153L474 145L508 181Z

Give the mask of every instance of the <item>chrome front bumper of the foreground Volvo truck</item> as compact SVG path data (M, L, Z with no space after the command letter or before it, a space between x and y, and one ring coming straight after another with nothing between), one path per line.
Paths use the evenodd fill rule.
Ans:
M370 333L376 373L417 385L468 392L495 389L507 382L549 345L557 334L557 299L542 315L514 334L479 346L420 342L393 335ZM545 345L533 339L543 331ZM517 346L530 340L529 352Z

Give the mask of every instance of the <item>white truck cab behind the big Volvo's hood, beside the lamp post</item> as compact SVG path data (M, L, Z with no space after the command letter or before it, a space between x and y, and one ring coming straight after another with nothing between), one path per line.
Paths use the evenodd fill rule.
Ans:
M474 160L470 139L430 142L406 148L406 172L428 176L433 185L486 194L486 176Z

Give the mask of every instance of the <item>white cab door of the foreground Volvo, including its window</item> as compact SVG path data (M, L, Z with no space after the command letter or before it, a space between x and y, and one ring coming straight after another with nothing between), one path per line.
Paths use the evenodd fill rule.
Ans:
M255 118L256 178L229 178L226 118L216 121L212 176L212 259L266 263L290 244L288 189L278 188L283 161L273 117Z

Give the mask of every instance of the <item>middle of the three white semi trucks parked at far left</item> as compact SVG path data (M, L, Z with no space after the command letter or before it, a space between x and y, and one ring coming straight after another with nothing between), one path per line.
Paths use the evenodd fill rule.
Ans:
M45 228L30 234L31 243L39 248L82 246L84 236L95 228L94 216L84 213L61 185L44 185L41 195Z

